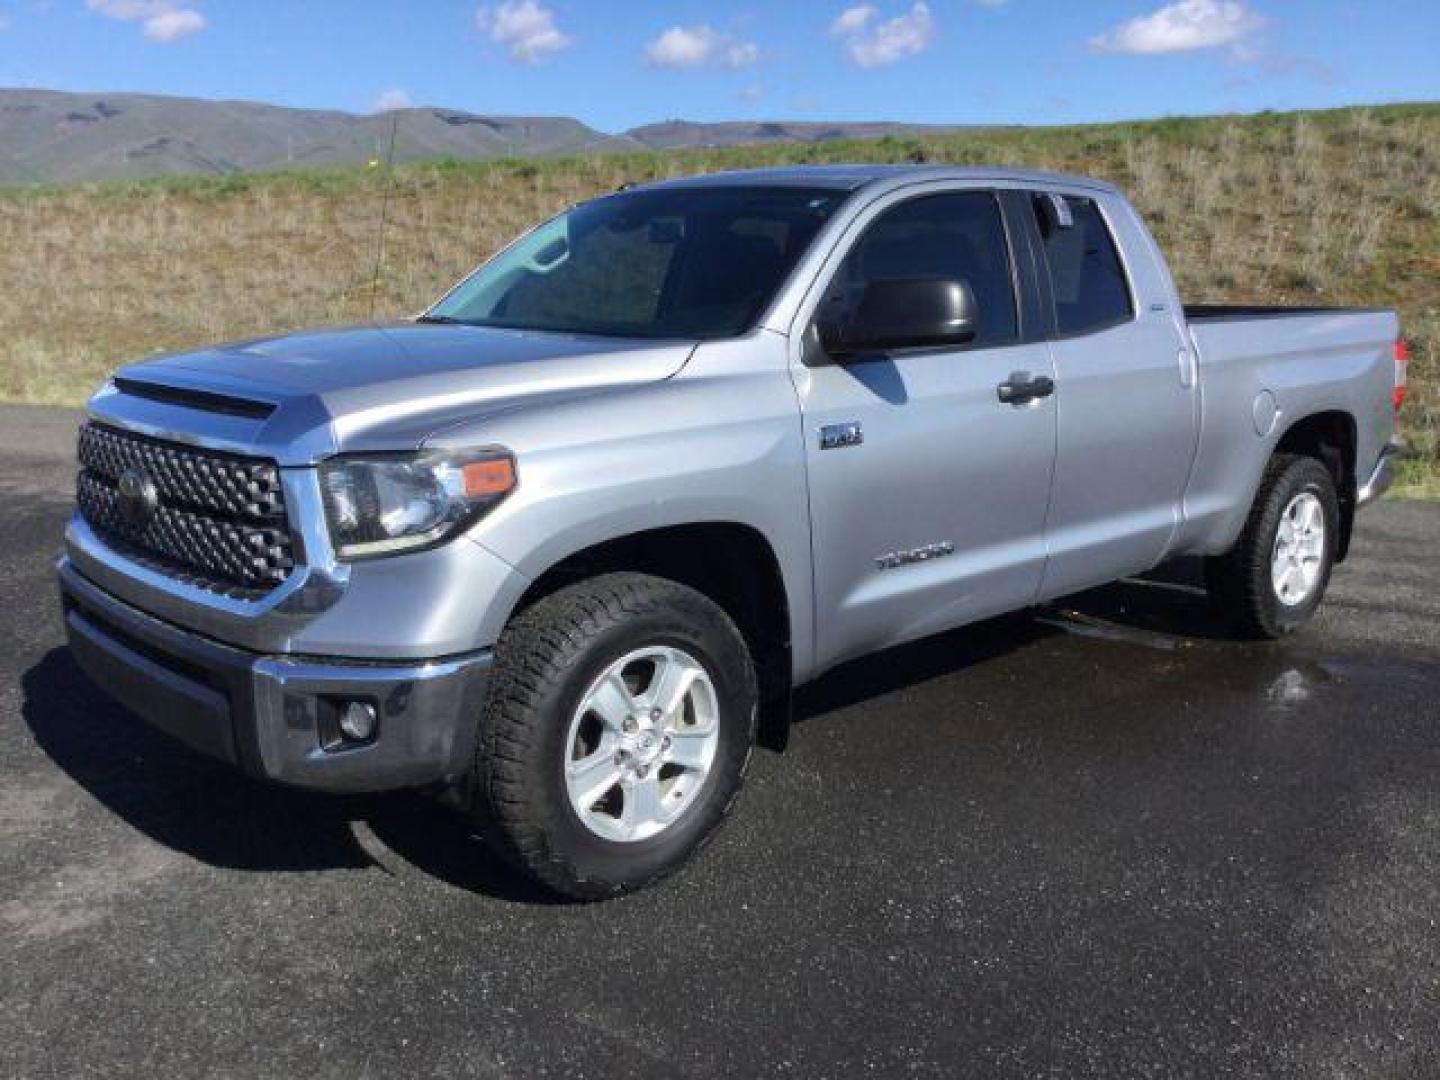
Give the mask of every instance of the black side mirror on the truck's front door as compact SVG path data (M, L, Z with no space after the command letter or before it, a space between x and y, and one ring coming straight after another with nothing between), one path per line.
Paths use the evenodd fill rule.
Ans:
M821 344L835 359L864 351L962 346L981 328L969 284L955 278L893 278L865 287L854 314L821 327Z

